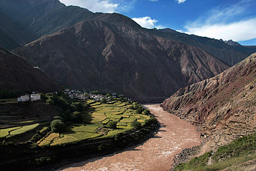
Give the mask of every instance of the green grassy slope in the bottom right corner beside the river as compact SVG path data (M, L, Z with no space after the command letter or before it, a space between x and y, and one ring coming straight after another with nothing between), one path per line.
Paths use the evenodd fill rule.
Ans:
M213 164L207 165L210 157ZM219 171L255 158L256 134L251 134L219 147L213 154L206 152L188 163L181 163L175 167L175 171Z

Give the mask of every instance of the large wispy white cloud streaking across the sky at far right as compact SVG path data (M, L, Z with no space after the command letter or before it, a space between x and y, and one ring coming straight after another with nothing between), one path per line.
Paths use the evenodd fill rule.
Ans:
M204 17L187 23L188 34L195 34L215 39L246 41L256 38L256 18L245 18L252 0L241 0L230 6L220 5Z

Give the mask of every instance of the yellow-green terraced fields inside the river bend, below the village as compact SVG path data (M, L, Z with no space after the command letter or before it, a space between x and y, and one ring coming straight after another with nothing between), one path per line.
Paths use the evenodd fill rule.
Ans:
M112 101L101 104L89 100L86 103L90 104L90 107L81 112L81 123L71 123L61 133L49 132L37 144L39 146L56 146L81 140L114 137L118 133L131 130L132 122L137 121L143 126L145 121L150 119L148 115L138 114L136 110L129 109L132 104L126 102ZM117 122L117 128L105 127L111 121Z

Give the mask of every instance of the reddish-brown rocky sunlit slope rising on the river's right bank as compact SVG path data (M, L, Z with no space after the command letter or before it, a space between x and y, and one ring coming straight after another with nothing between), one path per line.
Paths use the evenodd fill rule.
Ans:
M216 77L179 89L161 107L203 126L212 143L256 131L256 53Z

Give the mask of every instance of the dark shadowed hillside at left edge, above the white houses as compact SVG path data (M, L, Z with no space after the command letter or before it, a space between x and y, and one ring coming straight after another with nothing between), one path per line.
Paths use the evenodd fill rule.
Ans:
M3 47L0 47L0 78L0 90L52 92L60 88L42 70Z

